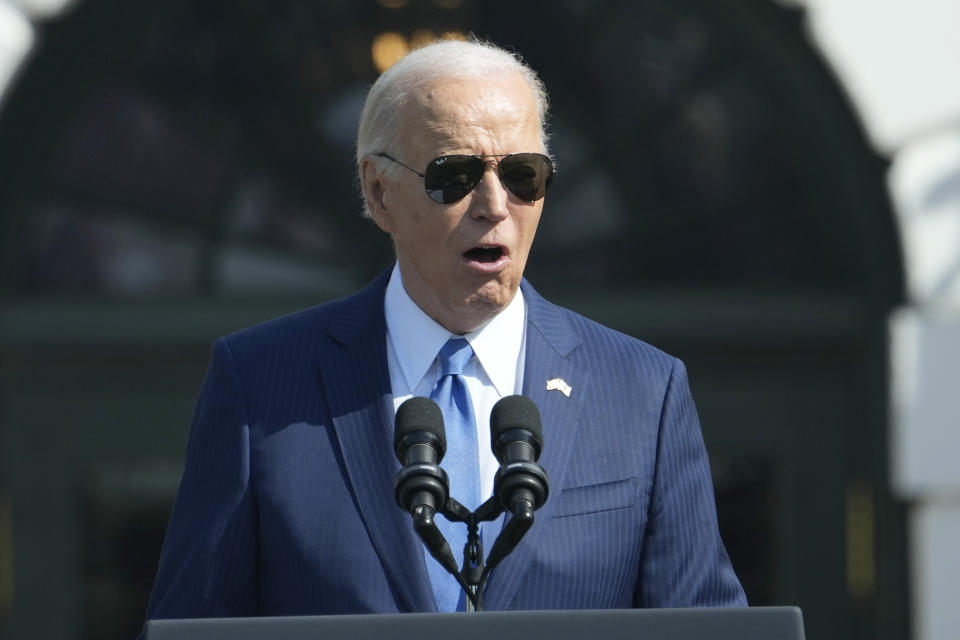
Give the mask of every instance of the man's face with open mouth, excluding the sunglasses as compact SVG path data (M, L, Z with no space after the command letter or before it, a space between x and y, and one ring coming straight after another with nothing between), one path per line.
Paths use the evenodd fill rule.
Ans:
M398 138L397 159L420 172L438 156L543 150L533 95L512 73L429 85L401 110ZM406 169L376 174L382 191L371 210L393 236L404 287L455 333L478 328L513 299L543 209L542 199L522 201L504 188L490 160L480 184L452 204L431 200L423 178Z

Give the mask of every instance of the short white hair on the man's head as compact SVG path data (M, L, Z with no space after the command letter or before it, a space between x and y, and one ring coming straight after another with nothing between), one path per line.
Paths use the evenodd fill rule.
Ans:
M411 51L399 62L380 74L370 87L360 115L357 132L357 173L363 198L362 163L366 156L390 151L397 140L400 110L411 94L439 79L474 79L503 73L519 73L530 87L537 107L540 142L547 150L546 119L549 101L547 90L537 73L519 56L492 42L440 40ZM393 163L378 164L386 172L397 171ZM370 217L370 207L363 199L363 215Z

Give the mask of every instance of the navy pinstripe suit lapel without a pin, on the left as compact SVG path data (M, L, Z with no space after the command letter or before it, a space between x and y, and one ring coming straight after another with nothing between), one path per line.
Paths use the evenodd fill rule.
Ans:
M393 497L400 463L390 447L394 411L383 316L389 275L342 303L319 367L344 466L398 604L431 611L436 604L421 544Z

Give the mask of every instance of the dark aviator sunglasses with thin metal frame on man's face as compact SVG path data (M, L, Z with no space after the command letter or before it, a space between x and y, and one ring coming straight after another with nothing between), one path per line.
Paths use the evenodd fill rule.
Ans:
M553 160L542 153L511 153L489 156L440 156L420 173L386 153L376 154L396 162L423 178L423 187L434 202L451 204L462 200L480 184L488 162L495 162L500 182L521 200L535 202L547 193L556 169ZM497 160L490 160L497 158Z

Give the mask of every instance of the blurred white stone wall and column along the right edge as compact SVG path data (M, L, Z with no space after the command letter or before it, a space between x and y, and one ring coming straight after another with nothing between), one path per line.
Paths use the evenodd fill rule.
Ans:
M915 640L960 634L960 2L793 0L892 160L908 305L890 319L891 483Z

